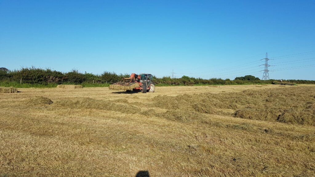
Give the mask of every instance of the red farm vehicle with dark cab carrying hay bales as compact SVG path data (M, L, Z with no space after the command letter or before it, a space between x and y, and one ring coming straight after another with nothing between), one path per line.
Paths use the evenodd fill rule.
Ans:
M154 92L155 85L153 83L152 74L140 74L137 75L132 73L129 78L123 78L120 82L113 83L109 86L109 89L112 90L126 90L126 92L135 92L146 93Z

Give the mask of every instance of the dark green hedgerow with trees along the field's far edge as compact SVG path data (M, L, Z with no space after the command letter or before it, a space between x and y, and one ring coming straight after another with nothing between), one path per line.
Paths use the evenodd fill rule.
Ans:
M76 69L63 73L51 69L42 68L21 68L20 70L10 71L7 68L0 68L0 81L1 82L20 82L28 84L61 84L61 83L115 83L120 81L123 77L129 77L130 73L116 74L115 72L104 71L102 74L81 73ZM183 76L181 78L171 77L154 77L154 82L159 85L202 85L202 84L214 84L214 85L236 85L236 84L270 84L271 80L260 80L255 76L236 77L234 80L221 79L221 78L194 78ZM286 80L284 80L286 81ZM315 81L309 80L289 80L289 82L295 82L297 84L315 84Z

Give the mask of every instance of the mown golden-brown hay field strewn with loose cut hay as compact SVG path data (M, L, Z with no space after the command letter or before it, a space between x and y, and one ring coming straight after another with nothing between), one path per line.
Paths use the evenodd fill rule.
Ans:
M0 176L315 176L315 86L20 88Z

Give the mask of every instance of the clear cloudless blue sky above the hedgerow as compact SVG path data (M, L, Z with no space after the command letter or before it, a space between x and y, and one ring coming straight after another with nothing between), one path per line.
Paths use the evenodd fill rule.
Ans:
M315 80L315 1L0 0L0 67ZM273 59L273 60L271 60Z

